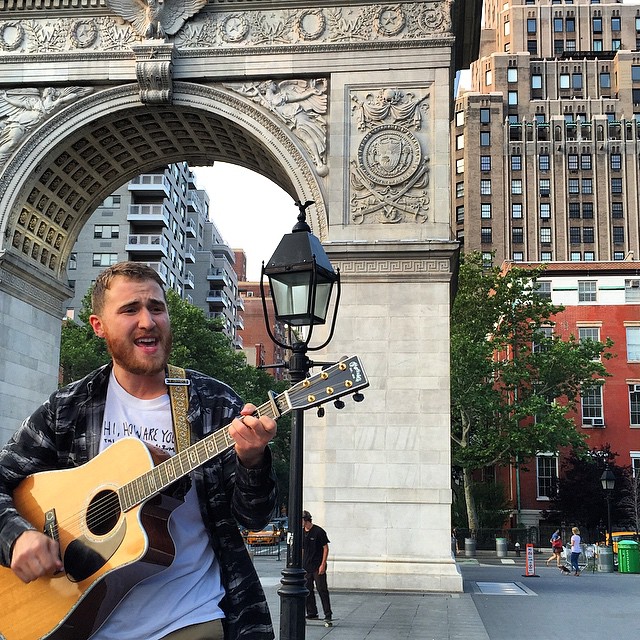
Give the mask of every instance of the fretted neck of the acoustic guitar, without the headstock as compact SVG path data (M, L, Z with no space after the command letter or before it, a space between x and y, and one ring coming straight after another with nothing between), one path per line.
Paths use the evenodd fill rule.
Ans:
M284 392L279 396L272 396L269 402L260 405L253 415L258 418L267 416L276 420L290 410L287 392ZM231 449L235 441L229 434L229 426L231 425L218 429L120 487L118 494L122 510L129 511L142 504L205 462Z

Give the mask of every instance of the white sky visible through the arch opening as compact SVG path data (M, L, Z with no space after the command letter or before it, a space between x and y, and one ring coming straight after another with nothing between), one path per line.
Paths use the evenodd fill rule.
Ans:
M192 167L199 189L209 195L209 217L232 249L244 249L247 278L260 280L260 269L298 217L293 199L255 171L216 162Z

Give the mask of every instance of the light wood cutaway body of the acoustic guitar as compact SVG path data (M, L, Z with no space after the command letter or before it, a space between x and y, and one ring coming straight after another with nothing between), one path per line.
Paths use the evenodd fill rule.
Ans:
M18 511L39 531L53 524L65 572L25 584L0 567L0 639L84 640L137 582L171 564L167 521L179 501L160 494L126 512L104 509L153 466L144 443L125 438L81 467L19 485Z

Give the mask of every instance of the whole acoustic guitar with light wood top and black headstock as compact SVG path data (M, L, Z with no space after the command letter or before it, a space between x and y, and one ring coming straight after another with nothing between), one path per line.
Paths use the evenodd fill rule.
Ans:
M254 415L277 419L368 385L353 356L272 392ZM226 427L154 464L142 441L124 438L80 467L25 478L13 495L16 507L59 542L64 570L25 584L0 567L0 640L86 640L95 633L138 582L173 561L168 519L180 502L165 490L233 446Z

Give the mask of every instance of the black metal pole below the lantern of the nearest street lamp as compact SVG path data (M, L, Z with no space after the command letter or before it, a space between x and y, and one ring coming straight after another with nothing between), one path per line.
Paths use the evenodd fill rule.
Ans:
M306 343L292 346L289 360L291 384L297 384L309 374ZM294 409L291 418L291 467L289 470L289 535L287 536L287 565L280 581L280 640L304 640L305 587L302 568L302 487L304 410Z

